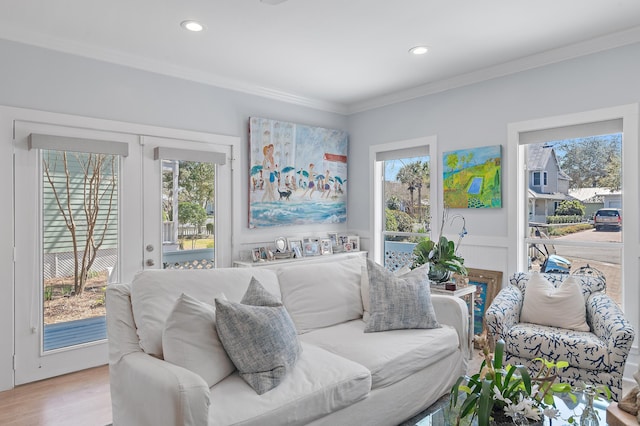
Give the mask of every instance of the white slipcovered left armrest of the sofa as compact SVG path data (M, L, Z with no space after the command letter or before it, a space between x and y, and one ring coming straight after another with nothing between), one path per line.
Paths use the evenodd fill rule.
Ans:
M206 425L210 393L202 377L134 352L109 365L113 424Z

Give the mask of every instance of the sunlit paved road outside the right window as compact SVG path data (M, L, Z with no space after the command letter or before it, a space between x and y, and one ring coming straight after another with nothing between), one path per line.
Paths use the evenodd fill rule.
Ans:
M620 231L596 231L589 229L563 237L554 237L553 241L619 243L622 241ZM554 245L556 254L571 261L571 271L589 265L605 275L607 293L622 306L621 258L622 249L617 247L584 247Z

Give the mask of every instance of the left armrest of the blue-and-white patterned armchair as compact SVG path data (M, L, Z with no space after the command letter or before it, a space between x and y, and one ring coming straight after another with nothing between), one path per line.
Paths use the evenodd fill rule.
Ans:
M506 339L509 329L520 322L523 300L524 295L514 285L500 290L484 314L485 325L491 338Z

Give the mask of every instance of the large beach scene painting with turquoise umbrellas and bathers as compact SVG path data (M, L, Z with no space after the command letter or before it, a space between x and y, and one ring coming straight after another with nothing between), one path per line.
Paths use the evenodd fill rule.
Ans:
M347 220L344 130L249 119L249 228Z

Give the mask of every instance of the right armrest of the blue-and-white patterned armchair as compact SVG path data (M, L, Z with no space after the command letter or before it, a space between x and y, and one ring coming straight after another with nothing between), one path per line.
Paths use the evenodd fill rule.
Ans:
M605 293L594 293L587 299L587 322L609 350L610 369L624 370L635 331L620 307Z

